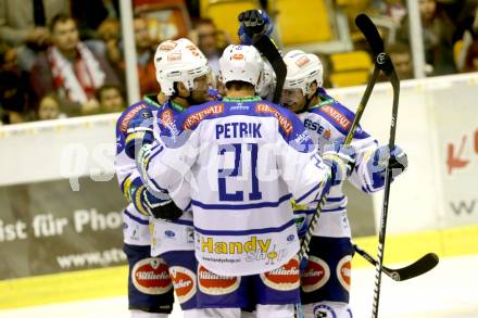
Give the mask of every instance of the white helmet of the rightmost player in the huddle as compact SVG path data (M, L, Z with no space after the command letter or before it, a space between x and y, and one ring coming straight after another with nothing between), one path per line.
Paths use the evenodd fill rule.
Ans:
M284 89L300 88L305 96L311 92L312 82L317 81L317 87L322 87L324 67L317 55L293 50L284 56L284 62L287 65Z

